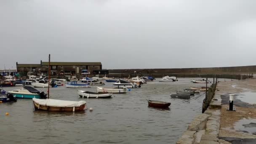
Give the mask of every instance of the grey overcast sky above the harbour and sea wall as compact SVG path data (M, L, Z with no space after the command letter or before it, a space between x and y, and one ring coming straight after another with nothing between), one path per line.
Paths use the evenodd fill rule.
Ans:
M256 65L256 0L0 0L0 68Z

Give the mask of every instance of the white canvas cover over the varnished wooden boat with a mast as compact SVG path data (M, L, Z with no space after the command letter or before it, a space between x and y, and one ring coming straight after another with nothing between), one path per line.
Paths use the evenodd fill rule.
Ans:
M82 104L86 104L86 101L63 101L57 99L36 99L33 101L40 105L50 106L50 107L80 107Z

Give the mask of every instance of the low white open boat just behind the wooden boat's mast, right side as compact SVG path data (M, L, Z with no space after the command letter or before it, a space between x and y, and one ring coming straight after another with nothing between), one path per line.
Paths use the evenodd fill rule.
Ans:
M94 93L91 91L77 91L81 98L111 98L112 93Z

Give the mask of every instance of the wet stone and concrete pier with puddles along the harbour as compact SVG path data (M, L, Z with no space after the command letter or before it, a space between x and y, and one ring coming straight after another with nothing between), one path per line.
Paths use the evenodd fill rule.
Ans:
M256 79L218 83L208 109L197 115L176 144L256 144ZM229 94L235 94L228 111Z

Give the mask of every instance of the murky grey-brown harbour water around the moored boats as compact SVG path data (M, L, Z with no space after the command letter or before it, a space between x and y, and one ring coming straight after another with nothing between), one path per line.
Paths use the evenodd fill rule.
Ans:
M110 99L87 99L77 96L76 88L50 88L52 99L87 101L93 111L34 111L32 99L18 99L0 104L1 144L174 144L188 123L201 113L204 96L185 102L171 99L170 93L184 88L205 86L191 83L191 78L178 82L148 82L125 94ZM107 83L103 87L113 87ZM5 91L21 87L4 88ZM40 88L37 88L40 89ZM47 91L46 88L41 88ZM92 88L80 90L96 91ZM147 99L171 102L170 109L148 107ZM9 112L5 116L5 112Z

